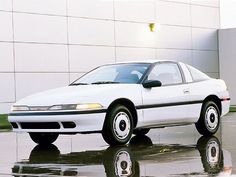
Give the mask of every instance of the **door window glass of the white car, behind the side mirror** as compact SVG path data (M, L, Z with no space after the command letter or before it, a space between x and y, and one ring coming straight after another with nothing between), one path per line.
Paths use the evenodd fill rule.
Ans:
M175 63L157 64L148 75L148 80L159 80L162 85L180 84L183 82L179 67Z

